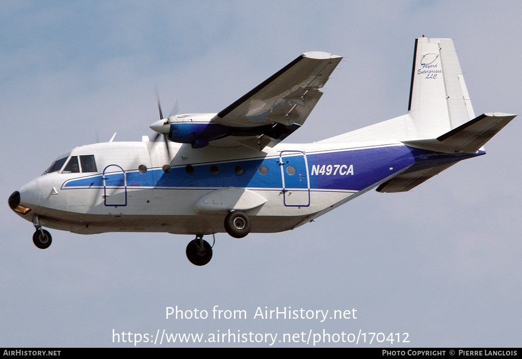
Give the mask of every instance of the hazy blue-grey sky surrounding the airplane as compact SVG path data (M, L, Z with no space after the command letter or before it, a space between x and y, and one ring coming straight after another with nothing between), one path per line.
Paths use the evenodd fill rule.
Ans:
M306 51L345 61L288 142L405 114L423 34L454 39L477 115L520 114L520 18L518 1L0 2L0 347L133 346L113 330L163 329L278 333L273 346L312 346L278 340L323 330L409 333L357 345L390 349L520 346L517 118L487 155L410 192L372 190L289 232L217 234L204 267L186 259L186 235L50 230L42 251L7 205L73 147L152 136L156 85L166 113L176 99L180 113L219 112ZM165 319L176 305L209 317ZM212 319L216 305L247 319ZM258 307L355 308L357 319L253 319ZM161 346L220 345L269 346Z

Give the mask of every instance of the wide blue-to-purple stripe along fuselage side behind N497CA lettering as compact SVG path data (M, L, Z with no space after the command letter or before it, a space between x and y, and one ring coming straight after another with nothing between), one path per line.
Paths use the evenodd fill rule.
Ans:
M304 155L294 151L282 153L281 158L274 156L193 164L193 173L188 173L191 171L187 172L185 166L174 166L170 173L163 173L161 169L149 169L146 173L132 170L125 174L127 187L268 189L283 188L284 178L285 188L359 191L419 161L435 160L437 163L444 163L472 156L473 154L437 153L407 146L388 146L307 152ZM260 166L265 166L268 172L262 174L259 171ZM293 169L290 168L292 166ZM211 167L213 172L216 172L216 167L219 172L213 173ZM105 185L123 186L123 172L106 173ZM95 175L70 179L62 188L102 186L102 175Z

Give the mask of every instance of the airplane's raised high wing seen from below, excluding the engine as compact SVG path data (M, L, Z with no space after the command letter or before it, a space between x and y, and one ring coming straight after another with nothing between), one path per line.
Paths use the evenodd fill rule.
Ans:
M303 125L342 57L306 52L212 118L232 134L211 146L274 146ZM252 135L250 135L252 134Z

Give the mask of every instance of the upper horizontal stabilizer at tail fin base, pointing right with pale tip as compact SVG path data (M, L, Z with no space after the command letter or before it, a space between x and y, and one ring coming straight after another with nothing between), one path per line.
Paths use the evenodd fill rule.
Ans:
M402 141L402 143L435 152L474 153L515 117L516 115L506 113L486 113L437 138Z

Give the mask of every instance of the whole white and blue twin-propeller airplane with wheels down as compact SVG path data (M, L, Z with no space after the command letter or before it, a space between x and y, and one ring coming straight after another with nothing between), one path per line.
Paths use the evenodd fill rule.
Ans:
M373 188L406 192L485 154L516 116L475 116L453 40L422 37L405 115L314 143L281 142L304 124L341 58L306 52L218 113L164 117L158 96L152 141L113 136L69 150L9 207L32 222L41 249L52 241L44 226L191 234L186 256L203 266L213 247L204 235L288 231Z

